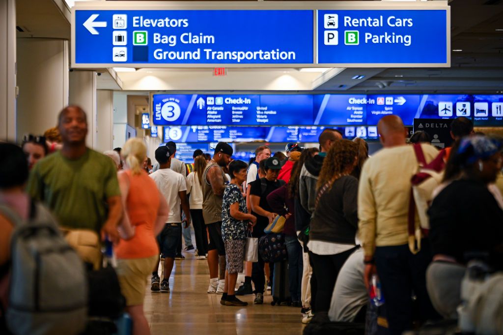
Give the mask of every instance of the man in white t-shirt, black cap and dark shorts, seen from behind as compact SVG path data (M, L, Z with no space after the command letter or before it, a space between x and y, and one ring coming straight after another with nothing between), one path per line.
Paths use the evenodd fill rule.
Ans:
M159 162L159 170L150 175L155 181L157 188L166 198L170 208L170 216L157 236L161 257L164 258L164 273L162 282L159 284L158 264L152 273L152 283L150 290L153 292L170 292L169 279L173 271L173 264L177 253L179 236L182 224L185 227L190 222L189 203L187 201L187 186L182 174L170 169L172 152L169 147L159 147L155 150L155 159ZM181 220L180 207L185 213L185 219Z

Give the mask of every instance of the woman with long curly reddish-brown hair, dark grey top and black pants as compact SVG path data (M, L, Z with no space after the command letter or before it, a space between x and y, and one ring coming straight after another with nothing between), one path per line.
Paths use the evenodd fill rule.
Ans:
M328 151L318 178L315 210L307 247L316 277L315 318L326 317L337 276L358 248L358 179L351 172L358 164L358 144L336 141Z

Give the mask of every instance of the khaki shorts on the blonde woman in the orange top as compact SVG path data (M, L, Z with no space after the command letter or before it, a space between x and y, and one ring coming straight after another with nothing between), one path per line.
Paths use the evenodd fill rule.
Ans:
M152 273L157 257L117 259L117 277L126 306L143 305L147 276Z

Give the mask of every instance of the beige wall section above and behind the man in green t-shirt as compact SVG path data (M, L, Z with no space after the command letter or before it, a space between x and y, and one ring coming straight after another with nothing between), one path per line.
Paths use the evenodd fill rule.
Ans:
M17 138L43 134L68 105L68 41L17 40Z

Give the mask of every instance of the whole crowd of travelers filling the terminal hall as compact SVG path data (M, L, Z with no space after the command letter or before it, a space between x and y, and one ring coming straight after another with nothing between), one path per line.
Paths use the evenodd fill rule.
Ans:
M169 278L184 258L182 240L207 260L207 293L220 294L223 306L244 307L238 297L247 295L263 304L271 288L273 302L287 297L309 326L358 324L368 334L460 318L470 261L482 261L488 277L503 271L503 142L474 133L464 117L453 120L454 145L441 151L424 132L408 142L396 115L377 127L383 148L373 155L364 140L325 128L317 148L289 143L273 155L259 146L249 164L233 160L224 142L184 164L169 142L153 165L141 139L104 154L88 148L86 113L66 107L44 136L0 143L0 332L23 333L12 327L16 318L33 323L11 304L11 277L23 238L17 221L38 217L57 227L87 272L104 266L102 244L113 245L135 335L150 333L146 279L151 292L176 292ZM438 185L420 213L414 180L433 170L440 177L428 180ZM276 255L259 252L272 240ZM501 309L495 316L503 318ZM46 329L32 333L54 333Z

